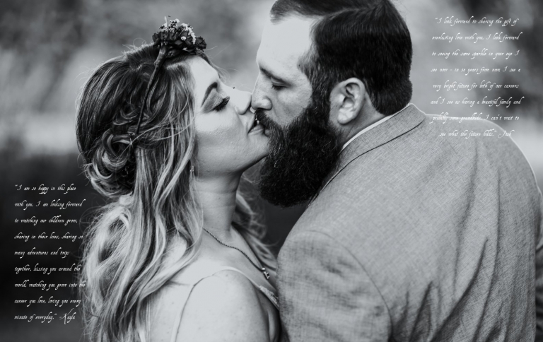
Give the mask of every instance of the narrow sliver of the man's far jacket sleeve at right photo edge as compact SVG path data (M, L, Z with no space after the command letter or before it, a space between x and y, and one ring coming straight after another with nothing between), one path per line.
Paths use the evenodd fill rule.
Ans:
M535 312L537 329L535 341L543 342L543 196L539 190L539 221L535 247Z

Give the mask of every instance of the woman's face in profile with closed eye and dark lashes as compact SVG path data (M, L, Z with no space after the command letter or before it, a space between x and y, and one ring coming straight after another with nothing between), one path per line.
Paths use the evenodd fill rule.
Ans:
M243 172L267 155L264 127L250 111L251 94L222 83L204 59L188 61L194 78L198 175Z

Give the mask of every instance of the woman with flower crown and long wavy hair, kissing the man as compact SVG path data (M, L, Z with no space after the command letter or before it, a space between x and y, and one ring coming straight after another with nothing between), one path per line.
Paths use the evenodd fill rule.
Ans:
M178 20L106 61L83 88L77 138L111 199L86 235L92 341L277 341L274 257L238 194L267 154L250 94L226 86Z

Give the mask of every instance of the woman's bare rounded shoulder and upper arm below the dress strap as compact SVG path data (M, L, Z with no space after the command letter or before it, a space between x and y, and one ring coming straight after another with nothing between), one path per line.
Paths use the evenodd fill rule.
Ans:
M257 290L235 271L219 271L194 286L177 341L268 341L269 320Z

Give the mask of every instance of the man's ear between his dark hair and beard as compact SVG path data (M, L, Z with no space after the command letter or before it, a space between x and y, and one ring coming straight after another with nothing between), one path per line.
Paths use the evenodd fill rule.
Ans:
M366 86L358 78L337 83L330 92L330 119L344 125L360 114L366 100Z

